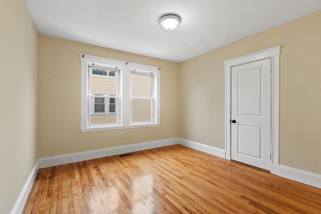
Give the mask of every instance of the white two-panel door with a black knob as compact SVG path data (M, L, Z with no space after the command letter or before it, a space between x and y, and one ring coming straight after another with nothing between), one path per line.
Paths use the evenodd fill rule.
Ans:
M271 59L232 67L231 159L270 170Z

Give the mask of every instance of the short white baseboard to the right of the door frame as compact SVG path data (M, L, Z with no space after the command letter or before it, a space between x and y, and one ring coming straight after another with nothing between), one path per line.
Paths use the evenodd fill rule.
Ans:
M321 175L311 172L278 165L278 175L281 177L305 183L310 186L321 188Z

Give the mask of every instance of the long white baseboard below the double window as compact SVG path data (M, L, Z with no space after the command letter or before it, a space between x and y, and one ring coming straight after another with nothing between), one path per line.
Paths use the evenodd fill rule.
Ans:
M39 159L39 168L57 166L67 163L74 163L78 161L90 160L100 157L107 157L112 155L124 154L128 152L141 151L145 149L152 149L164 146L179 144L179 138L171 138L165 140L157 140L145 143L137 143L126 146L118 146L106 149L98 149L86 152L78 152L72 154L58 155L53 157L45 157Z

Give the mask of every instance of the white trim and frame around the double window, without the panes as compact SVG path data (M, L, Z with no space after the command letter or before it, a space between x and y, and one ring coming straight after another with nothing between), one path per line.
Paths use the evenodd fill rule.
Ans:
M129 63L119 60L113 60L103 57L80 54L81 59L81 132L115 130L127 128L153 127L160 125L160 68ZM89 105L89 67L99 67L111 70L117 70L118 75L118 107L116 112L119 114L119 124L94 125L88 126L90 110ZM132 71L153 75L153 91L154 91L154 106L153 106L153 122L146 123L131 123L130 122L130 73ZM94 75L96 76L96 75ZM103 76L103 75L99 75ZM113 78L106 76L105 78ZM110 113L109 113L110 114Z

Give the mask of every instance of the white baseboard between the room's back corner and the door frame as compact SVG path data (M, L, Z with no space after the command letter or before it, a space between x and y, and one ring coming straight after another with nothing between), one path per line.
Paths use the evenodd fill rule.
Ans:
M198 143L198 142L191 141L191 140L186 140L183 138L180 138L179 140L180 140L179 141L180 144L183 146L186 146L186 147L189 147L192 149L196 149L196 150L199 150L199 151L202 151L202 152L205 152L208 154L212 154L214 156L218 156L218 157L225 159L225 150L224 149L216 148L214 146L205 145L205 144Z

